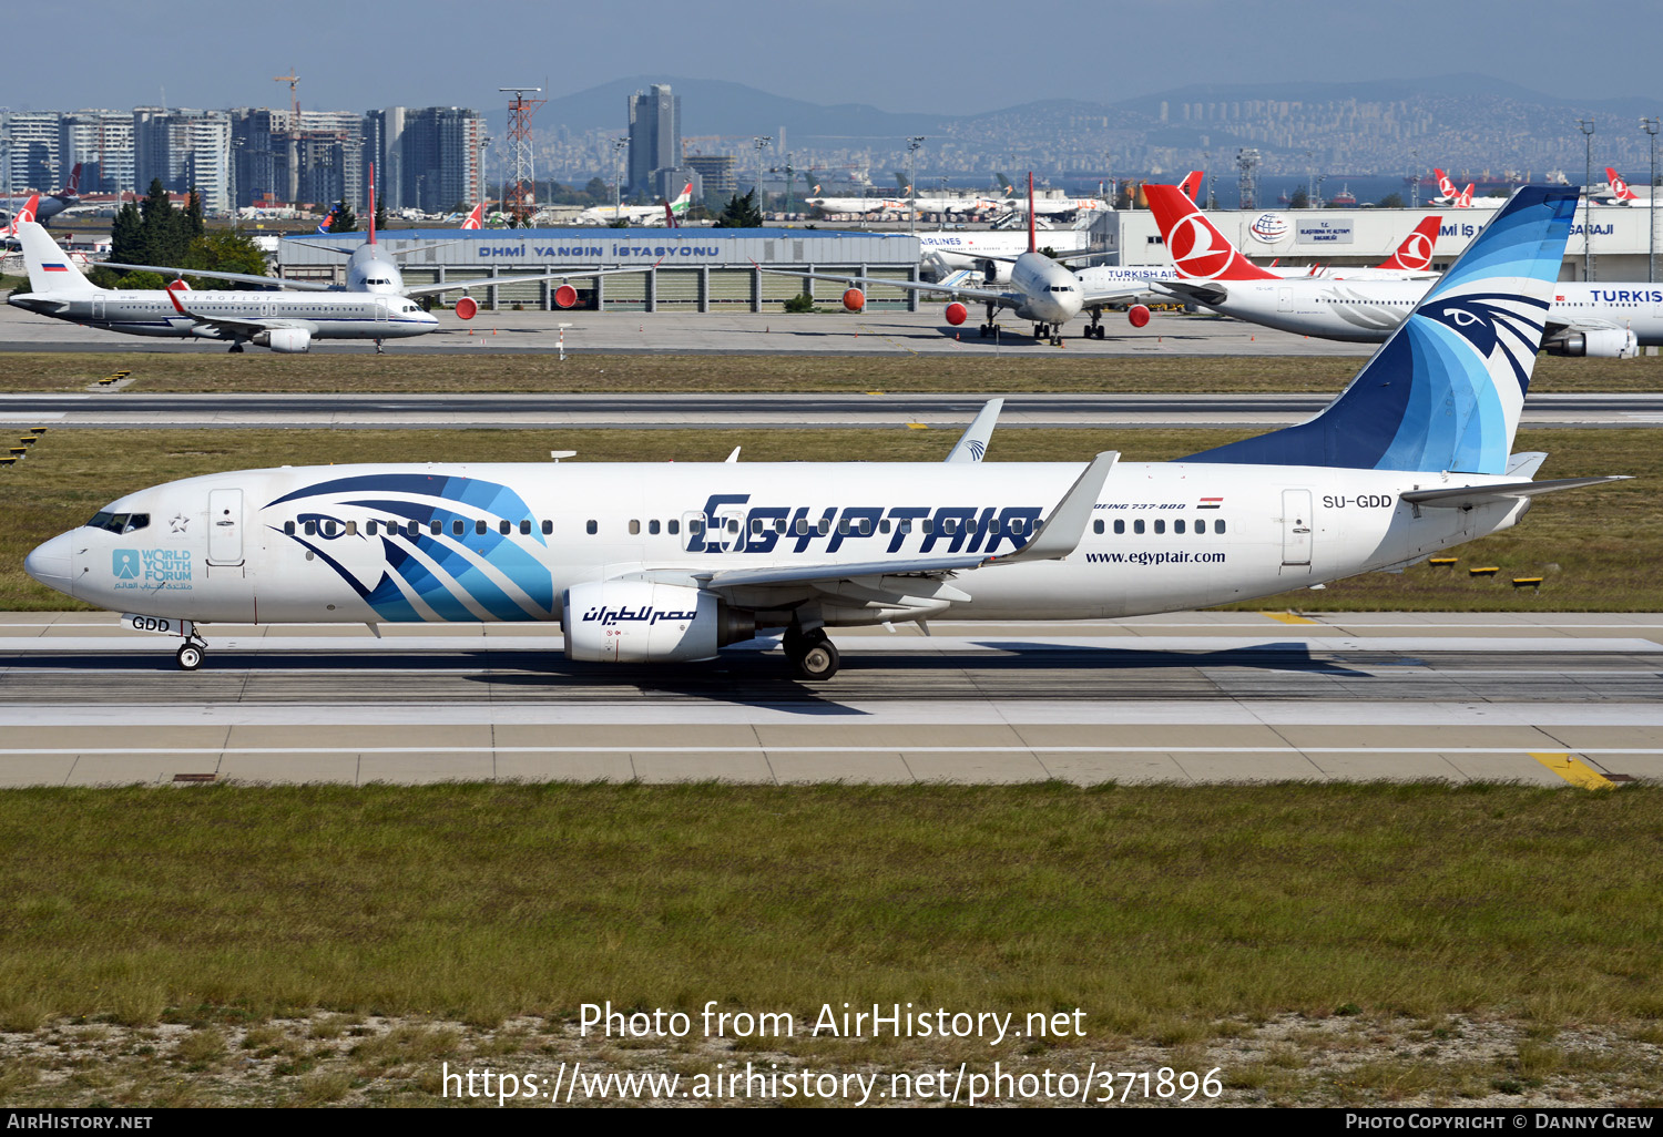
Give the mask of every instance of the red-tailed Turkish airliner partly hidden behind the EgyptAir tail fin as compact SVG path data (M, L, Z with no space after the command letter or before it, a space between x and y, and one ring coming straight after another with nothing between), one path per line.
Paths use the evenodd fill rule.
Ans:
M1176 188L1144 186L1144 193L1179 278L1162 279L1157 288L1187 303L1300 336L1377 344L1429 294L1424 279L1271 276L1237 253ZM1483 233L1498 221L1492 219ZM1663 286L1555 283L1542 344L1547 351L1625 359L1651 344L1663 344Z

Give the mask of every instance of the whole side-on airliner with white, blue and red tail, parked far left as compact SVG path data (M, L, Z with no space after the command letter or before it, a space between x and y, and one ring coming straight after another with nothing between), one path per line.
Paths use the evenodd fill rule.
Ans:
M244 344L299 352L308 351L314 339L373 339L381 351L384 339L426 336L439 326L401 296L98 288L81 276L40 224L22 223L18 241L23 244L30 291L12 293L7 303L86 327L128 336L216 339L229 342L234 352Z

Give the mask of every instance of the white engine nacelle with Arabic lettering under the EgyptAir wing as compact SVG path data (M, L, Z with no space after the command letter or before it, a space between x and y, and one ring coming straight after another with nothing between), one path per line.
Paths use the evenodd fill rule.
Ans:
M582 663L692 663L757 635L755 617L715 593L645 580L600 580L567 590L565 658Z

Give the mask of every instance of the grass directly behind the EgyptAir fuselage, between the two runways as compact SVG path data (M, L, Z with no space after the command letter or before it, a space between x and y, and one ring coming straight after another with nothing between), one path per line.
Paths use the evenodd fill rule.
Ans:
M1242 437L1244 431L1004 431L988 460L1084 460L1119 449L1128 462L1164 460ZM866 459L936 462L951 431L50 431L0 472L0 610L55 610L73 602L23 575L23 557L106 502L145 485L263 465L411 460L713 462L742 459ZM1543 497L1515 529L1455 550L1460 565L1370 573L1247 607L1302 610L1663 610L1663 510L1653 497L1663 450L1650 431L1522 431L1518 450L1548 450L1542 477L1633 474L1636 480ZM1467 567L1502 568L1473 580ZM1540 592L1515 592L1513 575L1542 575Z

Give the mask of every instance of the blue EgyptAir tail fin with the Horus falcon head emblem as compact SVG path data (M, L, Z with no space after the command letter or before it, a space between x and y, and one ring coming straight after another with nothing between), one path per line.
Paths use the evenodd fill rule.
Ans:
M1505 474L1575 186L1520 186L1319 416L1189 462Z

